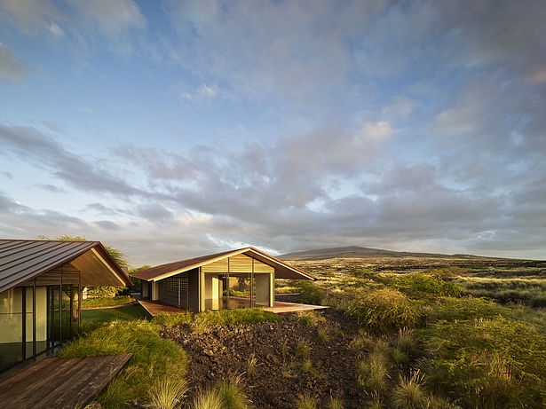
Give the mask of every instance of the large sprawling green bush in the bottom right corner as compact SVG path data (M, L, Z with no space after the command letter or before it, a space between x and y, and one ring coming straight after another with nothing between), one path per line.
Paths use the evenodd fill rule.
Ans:
M420 334L433 353L428 382L464 407L546 405L546 335L533 325L498 316L439 321Z

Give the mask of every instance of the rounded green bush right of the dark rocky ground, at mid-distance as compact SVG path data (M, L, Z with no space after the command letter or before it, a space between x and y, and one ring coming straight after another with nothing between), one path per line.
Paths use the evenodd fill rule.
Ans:
M382 288L354 300L347 313L360 325L380 333L414 327L422 315L415 303L392 288Z

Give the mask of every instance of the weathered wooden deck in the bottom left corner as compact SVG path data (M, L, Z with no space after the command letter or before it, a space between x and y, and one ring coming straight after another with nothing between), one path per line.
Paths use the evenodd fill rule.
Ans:
M131 357L46 358L0 380L0 402L12 409L84 407Z

